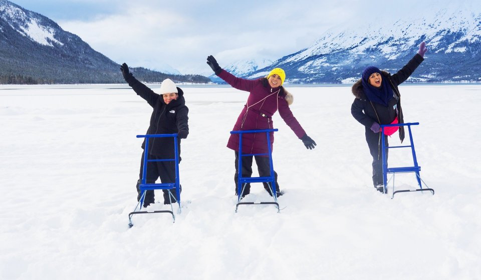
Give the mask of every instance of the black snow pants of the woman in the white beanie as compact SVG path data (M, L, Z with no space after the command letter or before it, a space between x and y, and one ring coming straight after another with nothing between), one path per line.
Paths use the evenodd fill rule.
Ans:
M140 200L140 188L139 184L142 181L142 171L144 167L144 154L145 151L142 152L142 159L140 161L140 174L139 179L137 180L137 201ZM161 159L158 156L149 154L148 159ZM175 182L175 163L173 161L150 161L147 162L147 174L146 174L146 183L155 183L155 181L160 177L160 181L162 183L171 183ZM182 187L180 187L182 190ZM175 200L175 190L174 189L162 189L164 193L164 204L170 204L170 201L176 202ZM169 200L169 192L172 193L173 196L170 197ZM148 206L150 203L154 203L154 190L146 190L145 198L144 198L144 207Z

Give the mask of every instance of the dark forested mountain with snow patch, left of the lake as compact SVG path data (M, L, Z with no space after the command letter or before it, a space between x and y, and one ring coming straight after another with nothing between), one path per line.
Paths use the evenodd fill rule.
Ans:
M56 22L0 0L0 83L118 83L120 65ZM200 75L172 75L133 68L137 78L208 82Z

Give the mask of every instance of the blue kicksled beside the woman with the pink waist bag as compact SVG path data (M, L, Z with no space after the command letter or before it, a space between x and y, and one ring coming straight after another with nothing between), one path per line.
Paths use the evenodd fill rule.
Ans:
M408 122L408 123L396 123L396 124L383 124L381 126L381 135L384 135L384 127L388 126L407 126L407 129L409 131L409 140L410 140L410 145L406 146L386 146L384 137L381 137L381 149L382 149L382 178L384 182L384 193L387 193L387 184L392 178L392 196L391 199L394 197L394 194L398 192L408 192L408 191L425 191L429 190L434 194L434 189L427 187L426 183L421 179L421 176L419 175L419 171L421 170L421 166L417 164L417 158L416 158L416 151L414 150L414 142L412 140L412 132L411 132L411 125L418 125L419 122ZM410 147L411 152L412 152L412 159L413 159L413 166L404 166L404 167L387 167L387 158L386 158L386 150L388 148L403 148L403 147ZM413 172L416 174L416 179L419 184L418 189L399 189L399 190L394 190L394 175L395 173L409 173ZM392 173L392 177L387 181L387 174ZM422 188L421 181L424 183L426 186L425 188Z

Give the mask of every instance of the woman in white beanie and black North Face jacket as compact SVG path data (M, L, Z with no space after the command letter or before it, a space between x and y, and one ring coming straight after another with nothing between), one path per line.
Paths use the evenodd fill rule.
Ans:
M178 133L177 148L180 161L180 139L184 139L189 134L188 112L189 109L185 105L184 92L177 87L170 79L165 79L160 85L159 94L155 93L145 84L138 81L131 72L126 63L120 66L125 81L132 86L132 89L144 98L149 105L153 107L152 116L150 117L150 125L146 134L172 134ZM165 159L174 158L174 143L171 137L150 138L149 150L145 150L145 139L142 143L142 159L140 161L140 174L137 181L137 201L140 200L139 184L142 179L142 170L145 152L149 159ZM155 183L160 177L162 183L175 181L175 163L173 161L151 161L147 163L147 183ZM164 193L164 204L175 202L175 192L172 190L162 190ZM169 197L170 194L170 197ZM154 203L154 191L147 190L144 198L144 207L150 203Z

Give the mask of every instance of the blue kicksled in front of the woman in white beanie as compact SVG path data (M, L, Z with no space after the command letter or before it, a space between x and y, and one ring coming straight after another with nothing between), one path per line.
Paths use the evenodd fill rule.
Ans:
M167 159L148 159L148 153L144 152L144 161L143 161L143 168L142 168L142 180L139 184L140 188L140 200L135 206L134 211L129 213L129 226L132 227L132 215L134 214L148 214L148 213L170 213L172 214L172 218L175 222L175 215L174 210L172 207L172 203L170 203L170 210L156 210L156 211L140 211L142 209L142 205L144 204L144 198L146 190L154 190L154 189L175 189L175 198L177 203L179 204L178 212L180 213L180 180L179 180L179 151L177 148L177 133L174 134L147 134L147 135L137 135L137 138L145 138L145 151L149 150L149 138L156 138L156 137L172 137L174 141L174 158L167 158ZM174 161L175 162L175 181L171 183L147 183L147 162L152 161ZM169 191L169 199L170 199L170 191ZM140 207L139 207L140 205ZM137 211L137 208L139 209Z

